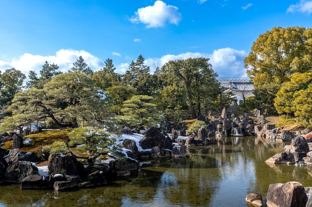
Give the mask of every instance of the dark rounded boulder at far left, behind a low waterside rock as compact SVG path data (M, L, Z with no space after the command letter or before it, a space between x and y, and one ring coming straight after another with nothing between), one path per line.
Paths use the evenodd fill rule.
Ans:
M4 180L8 183L20 183L25 177L38 174L38 168L35 164L27 161L17 161L7 167Z

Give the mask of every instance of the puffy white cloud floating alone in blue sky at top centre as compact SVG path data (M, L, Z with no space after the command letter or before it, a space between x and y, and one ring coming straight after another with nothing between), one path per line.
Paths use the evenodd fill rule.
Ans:
M130 21L147 24L147 28L164 27L166 23L178 24L182 15L177 10L176 6L156 0L152 6L139 8L135 16L130 18Z

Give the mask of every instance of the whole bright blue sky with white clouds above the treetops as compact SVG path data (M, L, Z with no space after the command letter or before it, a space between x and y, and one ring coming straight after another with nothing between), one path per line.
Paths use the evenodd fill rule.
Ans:
M207 57L220 76L245 76L243 59L275 26L312 27L312 0L0 0L0 70L44 61L67 71L82 56L123 73L142 54L155 69Z

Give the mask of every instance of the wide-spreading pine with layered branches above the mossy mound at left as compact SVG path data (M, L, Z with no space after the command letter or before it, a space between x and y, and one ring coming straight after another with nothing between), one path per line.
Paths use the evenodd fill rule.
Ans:
M20 129L46 118L60 127L76 128L83 123L103 126L111 116L109 107L110 98L84 73L58 74L43 89L31 88L15 94L7 108L12 116L5 118L0 128Z

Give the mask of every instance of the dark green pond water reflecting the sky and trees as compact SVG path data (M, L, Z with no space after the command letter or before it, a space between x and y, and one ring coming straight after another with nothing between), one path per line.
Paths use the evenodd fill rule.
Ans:
M185 159L148 161L151 164L143 164L138 176L109 187L56 193L1 186L0 206L246 207L247 193L265 197L271 183L312 186L312 166L264 163L283 151L283 143L228 137L189 151Z

